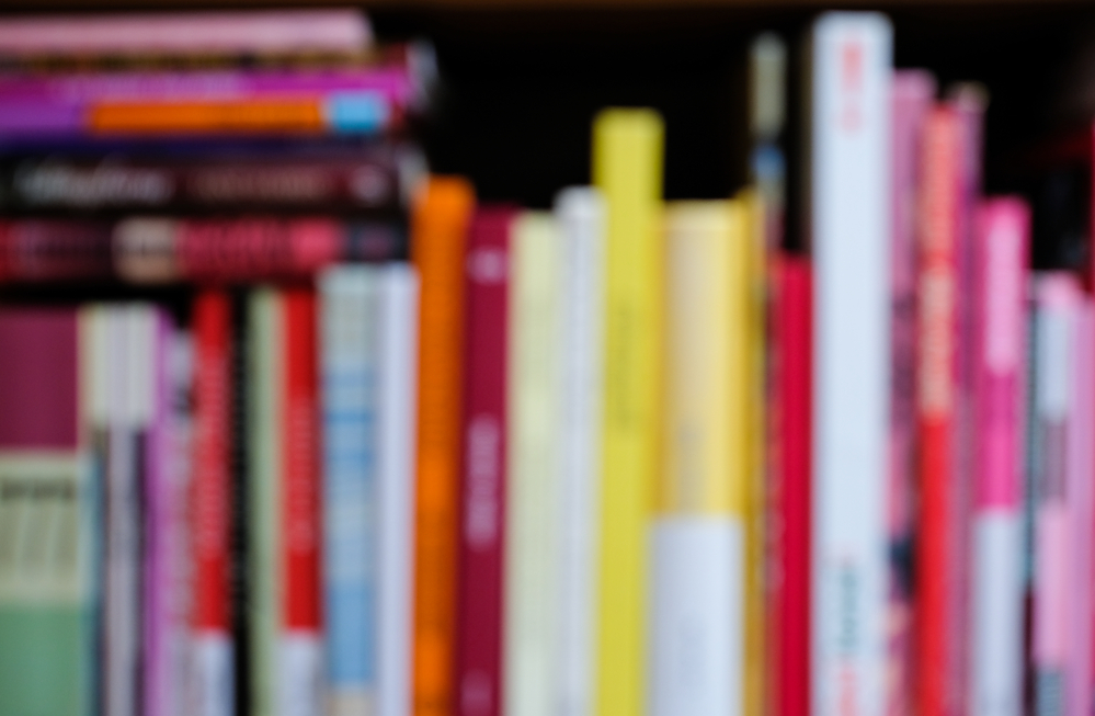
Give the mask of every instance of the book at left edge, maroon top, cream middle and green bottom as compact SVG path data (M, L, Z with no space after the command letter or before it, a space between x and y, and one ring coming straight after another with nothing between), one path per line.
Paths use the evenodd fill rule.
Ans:
M77 310L0 311L0 712L90 716L100 479ZM48 547L42 549L41 547Z

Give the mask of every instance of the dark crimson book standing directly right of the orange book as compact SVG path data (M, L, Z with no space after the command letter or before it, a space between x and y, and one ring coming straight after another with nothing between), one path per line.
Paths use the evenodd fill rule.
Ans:
M467 341L457 615L457 714L499 716L505 547L505 384L510 225L478 213L464 265Z

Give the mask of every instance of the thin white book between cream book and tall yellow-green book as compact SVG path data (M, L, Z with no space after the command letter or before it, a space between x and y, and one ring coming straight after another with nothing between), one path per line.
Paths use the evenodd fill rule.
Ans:
M604 201L592 187L567 189L556 198L555 213L562 243L559 340L566 376L560 409L559 709L560 716L591 716L604 394Z

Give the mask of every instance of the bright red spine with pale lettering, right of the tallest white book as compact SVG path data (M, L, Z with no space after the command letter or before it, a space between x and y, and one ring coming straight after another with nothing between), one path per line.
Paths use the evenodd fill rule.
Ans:
M955 234L957 124L946 107L929 112L924 127L923 212L917 279L917 430L921 510L916 564L916 687L925 716L953 714L948 687L954 661L949 649L950 562L955 559L955 440L959 330L958 259Z

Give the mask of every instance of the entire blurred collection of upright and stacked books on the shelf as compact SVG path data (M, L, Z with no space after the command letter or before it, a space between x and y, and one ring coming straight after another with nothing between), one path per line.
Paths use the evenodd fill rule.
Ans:
M1090 281L982 88L806 54L735 196L606 109L527 211L360 13L0 22L0 714L1088 713Z

